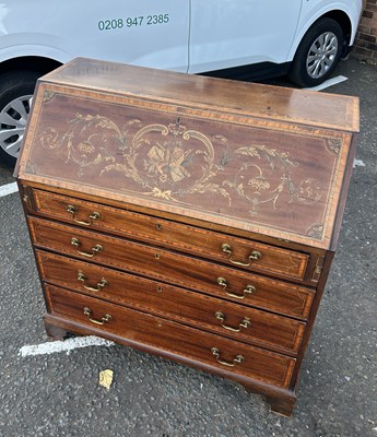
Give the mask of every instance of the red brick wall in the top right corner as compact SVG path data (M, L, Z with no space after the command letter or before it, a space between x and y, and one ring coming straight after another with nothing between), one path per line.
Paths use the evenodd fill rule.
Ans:
M361 59L377 61L377 0L367 0L354 43Z

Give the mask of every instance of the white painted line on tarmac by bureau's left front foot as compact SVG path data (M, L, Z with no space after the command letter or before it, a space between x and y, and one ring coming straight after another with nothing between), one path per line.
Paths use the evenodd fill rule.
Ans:
M79 347L87 346L113 346L115 343L101 339L99 336L89 335L89 336L75 336L73 339L68 339L64 341L51 341L42 344L26 345L20 349L19 355L22 357L30 355L49 355L57 352L69 353Z

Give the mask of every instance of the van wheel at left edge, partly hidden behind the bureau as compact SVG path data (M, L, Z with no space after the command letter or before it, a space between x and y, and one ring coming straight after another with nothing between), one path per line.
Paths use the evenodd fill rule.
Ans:
M37 71L0 74L0 161L14 166L24 138Z

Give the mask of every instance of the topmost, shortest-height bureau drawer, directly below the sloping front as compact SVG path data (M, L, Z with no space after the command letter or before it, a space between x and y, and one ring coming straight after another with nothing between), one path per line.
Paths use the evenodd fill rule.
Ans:
M208 257L248 271L303 280L309 256L42 190L33 190L36 212L83 227ZM260 257L260 258L259 258Z

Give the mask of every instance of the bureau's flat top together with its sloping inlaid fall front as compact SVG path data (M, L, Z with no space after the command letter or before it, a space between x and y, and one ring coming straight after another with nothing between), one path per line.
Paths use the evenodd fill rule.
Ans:
M38 81L16 173L333 249L357 129L355 97L79 58Z

